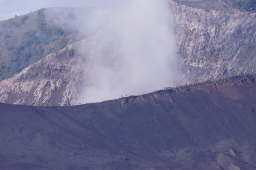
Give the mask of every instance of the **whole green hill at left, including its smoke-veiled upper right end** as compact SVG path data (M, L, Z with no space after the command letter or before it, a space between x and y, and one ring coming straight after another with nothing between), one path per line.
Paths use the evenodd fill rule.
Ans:
M90 12L91 8L47 8L1 21L0 80L90 36L81 32L82 24L79 29L74 26L86 22Z

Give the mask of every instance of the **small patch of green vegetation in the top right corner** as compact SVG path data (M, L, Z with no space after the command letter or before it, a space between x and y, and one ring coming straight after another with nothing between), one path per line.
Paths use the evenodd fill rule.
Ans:
M243 10L250 10L256 7L256 0L223 0L225 3L232 4Z

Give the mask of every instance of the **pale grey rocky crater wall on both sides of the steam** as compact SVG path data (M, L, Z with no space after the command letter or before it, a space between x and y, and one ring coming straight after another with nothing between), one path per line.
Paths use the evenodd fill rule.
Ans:
M176 23L180 84L256 72L256 13L220 1L170 1L170 9ZM99 36L67 46L0 81L0 102L36 106L74 103L86 81L86 63L77 62L77 56L86 58L93 43L100 41Z

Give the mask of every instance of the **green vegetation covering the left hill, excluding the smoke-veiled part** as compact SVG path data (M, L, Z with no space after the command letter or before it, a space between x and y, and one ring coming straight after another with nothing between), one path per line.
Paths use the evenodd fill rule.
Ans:
M45 9L0 22L0 80L83 38L45 19Z

